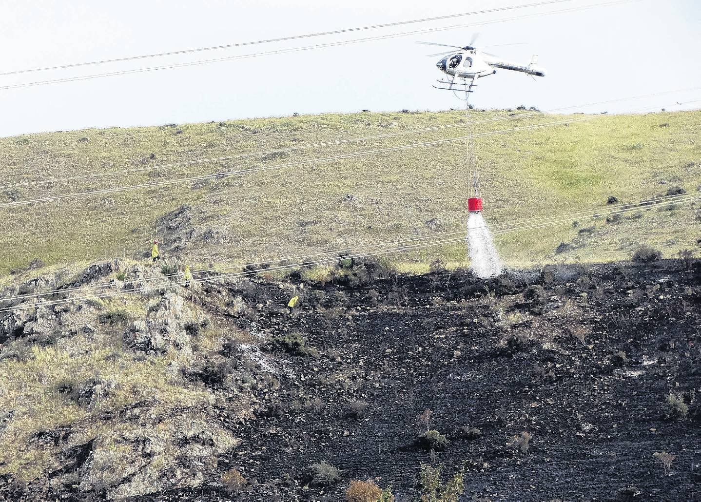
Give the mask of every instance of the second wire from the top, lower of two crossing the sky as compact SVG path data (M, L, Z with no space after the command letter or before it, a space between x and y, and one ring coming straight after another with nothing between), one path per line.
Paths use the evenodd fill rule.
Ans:
M456 28L491 25L491 24L495 24L498 22L507 22L507 21L525 19L525 18L533 18L533 17L538 17L541 15L553 15L553 14L559 14L559 13L577 12L577 11L587 10L590 8L608 7L608 6L613 6L613 5L628 4L628 3L631 3L634 1L641 1L641 0L606 1L606 2L603 2L601 4L591 4L591 5L587 5L587 6L566 8L566 9L561 9L559 11L548 11L548 12L541 12L541 13L523 14L523 15L513 16L511 18L502 18L502 19L497 19L497 20L486 20L486 21L482 21L482 22L473 22L473 23L468 23L468 24L463 24L463 25L449 25L449 26L442 26L442 27L437 27L437 28L420 29L420 30L414 30L411 32L369 36L369 37L365 37L365 38L361 38L361 39L352 39L352 40L346 40L346 41L320 43L320 44L316 44L313 46L304 46L304 47L279 49L279 50L269 50L266 52L241 54L241 55L233 55L233 56L226 56L226 57L216 57L216 58L212 58L212 59L208 59L208 60L182 62L182 63L175 63L172 65L161 65L161 66L156 66L156 67L128 69L128 70L122 70L119 72L107 72L107 73L102 73L102 74L72 76L72 77L67 77L67 78L63 78L63 79L50 79L50 80L43 80L43 81L15 83L15 84L6 85L6 86L0 86L0 90L27 88L27 87L34 87L34 86L46 86L48 84L53 84L53 83L64 83L64 82L83 81L83 80L90 80L90 79L100 79L100 78L109 77L109 76L130 75L130 74L138 74L138 73L144 73L144 72L155 72L155 71L162 70L162 69L172 69L172 68L182 68L182 67L190 67L190 66L196 66L196 65L206 65L206 64L209 64L212 62L243 60L243 59L249 59L251 57L262 57L262 56L266 56L266 55L280 55L280 54L297 53L297 52L302 52L305 50L346 46L346 45L351 45L354 43L361 43L361 42L367 42L367 41L393 39L393 38L397 38L400 36L410 36L410 35L415 35L415 34L440 32L440 31L444 31L446 29L456 29Z

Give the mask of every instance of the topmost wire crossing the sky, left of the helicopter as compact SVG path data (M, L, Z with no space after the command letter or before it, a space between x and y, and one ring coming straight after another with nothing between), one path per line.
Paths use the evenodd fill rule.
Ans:
M146 55L139 55L139 56L128 56L128 57L116 57L114 59L72 63L69 65L60 65L60 66L53 66L53 67L21 69L21 70L15 70L13 72L0 73L0 76L17 75L17 74L32 73L32 72L43 72L46 70L53 70L53 69L76 68L76 67L84 67L84 66L90 66L90 65L102 65L104 63L111 63L111 62L142 60L142 59L147 59L149 57L161 57L161 56L170 56L170 55L178 55L178 54L200 53L200 52L205 52L207 50L219 50L219 49L226 49L226 48L233 48L233 47L254 46L254 45L257 45L259 43L271 43L271 42L283 42L283 41L299 40L299 39L311 39L315 36L336 35L336 34L348 33L348 32L360 32L360 31L364 31L366 29L376 29L376 28L387 28L387 27L394 27L394 26L401 26L401 25L411 25L411 24L415 24L418 22L429 22L429 21L438 21L438 20L443 20L443 19L463 18L466 15L479 15L479 14L487 14L487 13L494 13L494 12L501 12L501 11L512 11L512 10L519 9L519 8L540 7L540 6L546 6L546 5L552 5L552 4L564 4L566 2L571 2L571 1L574 1L574 0L548 0L548 1L536 2L533 4L523 4L523 5L517 5L517 6L489 8L489 9L484 9L483 11L472 11L472 12L463 12L463 13L456 13L456 14L449 14L449 15L440 15L440 16L435 16L433 18L421 18L421 19L414 19L414 20L408 20L408 21L387 22L387 23L384 23L381 25L369 25L369 26L355 27L355 28L335 29L335 30L327 31L327 32L317 32L317 33L310 33L310 34L304 34L304 35L293 35L293 36L282 36L282 37L275 38L275 39L262 39L262 40L256 40L256 41L248 41L248 42L229 43L229 44L222 45L222 46L212 46L212 47L193 48L193 49L184 49L184 50L172 50L172 51L166 52L166 53L155 53L155 54L146 54Z

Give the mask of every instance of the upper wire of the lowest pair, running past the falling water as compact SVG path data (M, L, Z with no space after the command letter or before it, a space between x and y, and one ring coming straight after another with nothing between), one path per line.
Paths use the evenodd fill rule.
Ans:
M540 228L540 225L538 223L533 223L533 222L545 222L545 224L559 224L562 222L569 222L573 221L576 219L587 219L587 218L592 218L592 217L600 217L603 214L607 215L620 215L624 214L626 212L631 212L633 210L641 210L642 208L662 208L667 205L672 205L672 204L677 204L677 203L686 203L689 201L693 201L701 196L689 196L687 194L678 194L676 196L665 196L665 197L658 197L658 198L653 198L653 199L646 199L643 201L638 201L638 202L632 202L632 203L622 203L620 205L613 205L609 206L608 208L602 208L604 209L601 211L601 209L596 210L595 212L594 209L590 210L583 210L579 212L573 212L569 213L566 215L557 215L557 216L552 216L552 217L540 217L540 218L529 218L529 219L524 219L524 220L519 220L516 222L512 223L505 223L505 224L500 224L496 226L492 226L492 229L500 229L503 226L515 226L517 229L531 229L531 228ZM555 219L554 222L548 222L547 220L550 219ZM531 222L531 224L528 224ZM536 226L533 226L535 224ZM519 226L520 225L520 226ZM501 235L501 233L505 233L508 231L511 231L512 229L503 229L503 230L496 230L494 231L495 235ZM321 252L316 252L312 255L301 255L301 256L293 256L293 257L285 257L281 259L273 259L273 260L267 260L267 261L258 261L258 262L248 262L246 264L233 264L229 266L220 266L220 267L215 267L212 269L205 269L205 270L200 270L200 271L193 271L193 274L203 274L207 272L218 272L226 269L232 269L232 268L242 268L242 267L250 267L254 265L260 265L260 264L269 264L269 263L275 263L275 262L286 262L292 259L308 259L308 258L313 258L317 257L319 255L340 255L340 257L346 257L345 253L351 252L351 251L358 251L362 249L366 249L368 247L378 247L382 245L393 245L393 244L399 244L399 243L407 243L407 242L416 242L417 240L433 240L435 238L445 238L445 237L450 237L450 236L456 236L460 235L463 236L461 238L464 238L465 236L465 231L449 231L449 232L442 232L442 233L434 233L430 236L420 236L420 237L414 237L414 238L404 238L404 239L398 239L398 240L392 240L384 243L373 243L373 244L368 244L368 245L363 245L360 247L349 247L345 249L336 249L336 250L327 250L327 251L321 251ZM334 259L339 259L339 256L335 256ZM299 262L298 264L294 264L293 266L306 266L308 263L315 263L314 262L308 262L308 260L304 262ZM258 271L271 271L275 270L275 268L261 268L258 269ZM151 280L156 280L156 281L161 281L162 283L152 285L151 287L159 287L161 285L169 285L172 284L170 282L170 278L177 277L179 273L173 273L169 275L165 275L162 277L157 277L157 278L144 278L138 281L133 281L133 282L140 282L140 283L146 283ZM226 274L224 274L226 276ZM222 276L222 277L224 277ZM50 292L43 292L43 293L27 293L27 294L19 294L19 295L14 295L11 297L4 297L0 298L0 301L13 301L17 299L29 299L29 298L37 298L37 297L43 297L43 296L49 296L52 294L67 294L69 292L75 292L75 291L81 291L81 290L95 290L98 288L103 288L103 287L111 287L112 285L109 283L104 283L102 285L92 285L92 286L76 286L76 287L69 287L69 288L62 288L59 290L53 290ZM2 311L0 309L0 311Z

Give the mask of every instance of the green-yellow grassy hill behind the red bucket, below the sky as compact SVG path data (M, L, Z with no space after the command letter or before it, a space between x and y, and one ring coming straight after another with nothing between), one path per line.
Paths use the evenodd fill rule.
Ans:
M582 115L473 111L473 126L503 130ZM348 154L468 133L459 126L330 147L210 163L123 170L464 121L464 112L360 113L295 116L148 128L86 129L0 139L0 203L74 191L159 182L179 177ZM464 124L464 123L463 123ZM475 139L485 215L490 224L606 208L665 194L670 186L697 192L701 180L701 112L596 116L591 121ZM4 231L0 274L40 258L46 264L100 257L138 258L150 241L198 263L233 263L351 247L464 228L465 143L454 142L345 160L299 165L197 182L0 208ZM12 186L39 179L107 176ZM666 184L661 184L666 182ZM639 219L571 222L497 236L508 264L629 257L640 244L673 257L697 246L699 205L652 209ZM580 236L582 227L595 225ZM560 243L570 250L555 255ZM465 260L463 245L397 255Z

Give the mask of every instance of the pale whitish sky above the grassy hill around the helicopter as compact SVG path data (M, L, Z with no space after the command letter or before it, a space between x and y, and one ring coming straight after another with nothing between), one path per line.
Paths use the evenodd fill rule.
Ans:
M114 57L219 46L515 6L536 0L2 0L0 73ZM0 86L123 69L168 65L268 50L346 41L363 36L437 29L427 34L265 55L207 65L102 79L0 89L0 137L55 130L240 118L348 113L370 109L440 110L464 105L432 87L442 74L440 48L416 41L477 45L528 64L538 54L547 76L534 80L500 70L480 79L472 102L479 108L543 111L701 86L701 2L639 0L545 15L605 0L469 15L415 25L263 43L110 63L0 76ZM523 17L527 16L527 17ZM490 22L514 18L515 20ZM479 26L480 23L485 23ZM446 28L447 25L474 27ZM701 89L572 111L623 113L641 109L699 108ZM677 104L677 102L681 102Z

